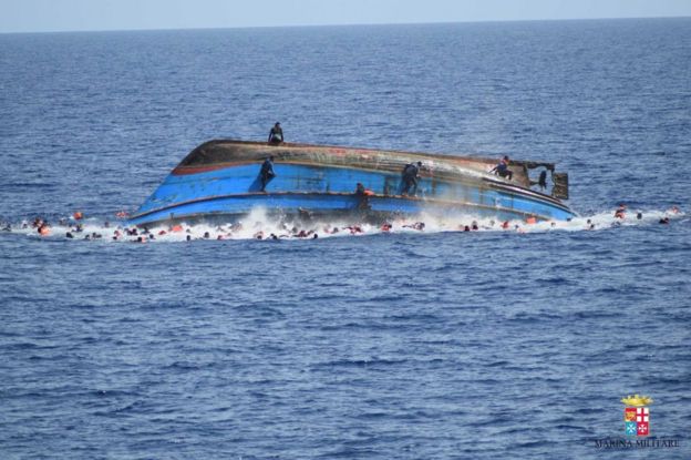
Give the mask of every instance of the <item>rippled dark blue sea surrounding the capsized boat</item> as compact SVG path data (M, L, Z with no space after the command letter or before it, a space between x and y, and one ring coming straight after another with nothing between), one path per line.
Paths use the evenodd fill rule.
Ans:
M109 238L276 121L556 162L581 217ZM0 35L0 458L690 458L690 160L691 19ZM21 228L78 209L103 239ZM633 393L679 447L598 444Z

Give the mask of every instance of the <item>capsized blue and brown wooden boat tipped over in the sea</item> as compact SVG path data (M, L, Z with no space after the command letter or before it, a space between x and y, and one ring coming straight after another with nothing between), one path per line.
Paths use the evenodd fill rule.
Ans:
M276 176L261 191L261 165L269 157ZM403 193L402 171L417 162L415 193ZM233 221L257 207L279 216L575 216L561 202L568 200L568 175L555 172L553 163L512 160L510 180L492 174L496 164L496 159L451 154L214 140L194 149L128 223ZM533 180L537 174L539 180Z

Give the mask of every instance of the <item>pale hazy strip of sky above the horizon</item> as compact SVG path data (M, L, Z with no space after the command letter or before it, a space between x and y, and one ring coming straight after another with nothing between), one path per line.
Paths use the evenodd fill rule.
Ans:
M691 17L691 0L0 0L0 33Z

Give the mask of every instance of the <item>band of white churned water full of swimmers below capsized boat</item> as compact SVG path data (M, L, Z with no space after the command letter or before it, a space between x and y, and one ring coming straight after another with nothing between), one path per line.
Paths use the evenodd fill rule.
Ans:
M395 218L383 224L346 222L343 219L309 222L291 221L269 216L264 208L255 208L236 222L225 224L159 224L143 229L127 227L125 221L109 222L100 217L76 219L61 217L58 224L50 224L41 234L29 221L2 223L3 233L20 234L34 238L68 238L74 241L103 242L188 242L198 239L310 239L324 237L364 236L382 233L442 233L442 232L580 232L601 231L620 226L647 226L679 221L685 213L678 208L627 213L623 218L615 217L612 211L590 216L579 216L570 221L543 221L534 224L515 219L499 222L474 215L441 217L420 214L414 217Z

